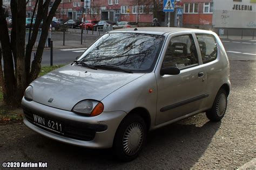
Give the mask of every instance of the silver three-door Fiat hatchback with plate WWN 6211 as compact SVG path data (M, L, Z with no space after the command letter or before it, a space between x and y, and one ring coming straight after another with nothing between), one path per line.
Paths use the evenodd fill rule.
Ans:
M211 31L139 27L105 33L75 61L25 90L24 124L64 143L138 156L147 132L206 112L230 93L223 44Z

